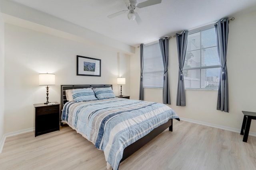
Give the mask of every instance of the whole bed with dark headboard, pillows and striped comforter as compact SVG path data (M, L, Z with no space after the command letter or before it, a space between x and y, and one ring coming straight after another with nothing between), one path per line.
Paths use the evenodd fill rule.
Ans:
M71 89L76 101L67 100ZM107 168L114 170L162 131L172 131L173 119L180 121L164 104L115 97L112 85L61 85L61 108L60 124L103 150Z

